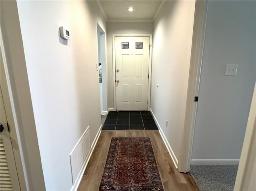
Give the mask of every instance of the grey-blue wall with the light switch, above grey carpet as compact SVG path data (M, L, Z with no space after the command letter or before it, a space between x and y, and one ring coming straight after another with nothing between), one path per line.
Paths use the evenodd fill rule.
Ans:
M209 1L192 159L239 159L256 79L256 2ZM225 76L226 64L238 64Z

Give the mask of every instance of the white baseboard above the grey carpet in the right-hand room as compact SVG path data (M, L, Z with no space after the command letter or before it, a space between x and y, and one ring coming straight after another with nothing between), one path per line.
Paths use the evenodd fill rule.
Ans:
M191 165L238 165L239 159L191 159Z

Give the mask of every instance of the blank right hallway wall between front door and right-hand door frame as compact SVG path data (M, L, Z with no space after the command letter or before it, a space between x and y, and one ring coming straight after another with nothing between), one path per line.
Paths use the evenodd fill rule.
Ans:
M194 9L195 1L166 1L154 23L150 108L176 158L184 128Z

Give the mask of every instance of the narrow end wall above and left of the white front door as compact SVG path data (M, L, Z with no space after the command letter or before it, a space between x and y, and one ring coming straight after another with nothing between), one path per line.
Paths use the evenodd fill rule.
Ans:
M153 22L108 22L108 108L114 108L112 34L153 34Z

